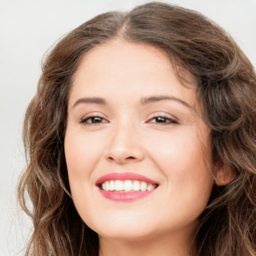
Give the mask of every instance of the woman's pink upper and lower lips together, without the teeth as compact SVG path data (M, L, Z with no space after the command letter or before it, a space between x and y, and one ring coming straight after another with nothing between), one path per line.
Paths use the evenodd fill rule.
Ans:
M128 201L133 201L137 200L140 198L143 198L149 194L151 194L155 189L150 190L150 191L104 191L100 189L99 185L103 183L106 180L140 180L140 181L145 181L147 183L152 183L152 184L157 184L156 181L147 178L145 176L133 173L133 172L112 172L108 173L102 177L100 177L97 181L96 184L98 185L99 192L101 195L107 199L114 200L114 201L122 201L122 202L128 202Z

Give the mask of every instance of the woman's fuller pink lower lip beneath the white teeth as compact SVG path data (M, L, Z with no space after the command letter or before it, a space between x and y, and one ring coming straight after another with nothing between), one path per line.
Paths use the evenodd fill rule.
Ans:
M99 192L101 195L107 199L113 200L113 201L122 201L122 202L128 202L128 201L134 201L140 198L143 198L149 194L151 194L153 190L150 191L105 191L99 188Z

